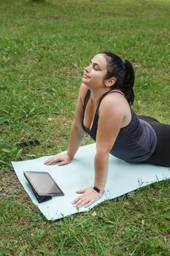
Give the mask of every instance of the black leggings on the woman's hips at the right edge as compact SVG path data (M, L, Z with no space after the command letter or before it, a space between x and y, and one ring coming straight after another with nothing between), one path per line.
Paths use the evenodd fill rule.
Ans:
M155 129L157 135L155 151L144 162L170 167L170 125L161 124L150 116L139 116L139 118L147 121Z

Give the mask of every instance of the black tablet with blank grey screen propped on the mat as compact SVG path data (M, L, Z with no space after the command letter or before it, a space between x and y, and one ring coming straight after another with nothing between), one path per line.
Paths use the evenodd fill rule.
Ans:
M39 196L64 195L49 173L26 171L23 174Z

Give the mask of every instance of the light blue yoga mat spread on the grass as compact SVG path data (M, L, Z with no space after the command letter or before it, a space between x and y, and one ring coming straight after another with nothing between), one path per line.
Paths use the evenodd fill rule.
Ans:
M169 167L140 163L129 164L110 155L109 173L104 195L96 203L93 203L92 206L88 208L82 207L80 211L77 211L77 208L72 205L72 200L78 197L76 190L93 187L93 158L95 154L96 144L93 143L80 147L69 165L60 167L57 164L44 165L43 162L48 157L12 162L12 165L20 183L31 197L33 203L38 206L42 214L49 220L60 219L80 211L88 211L104 200L119 197L148 184L170 178ZM53 197L52 200L46 201L45 203L38 203L28 181L23 176L23 171L26 170L49 172L65 195Z

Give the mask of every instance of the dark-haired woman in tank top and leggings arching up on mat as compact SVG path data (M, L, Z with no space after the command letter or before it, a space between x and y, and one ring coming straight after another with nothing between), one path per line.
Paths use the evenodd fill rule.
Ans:
M170 165L170 125L136 116L131 109L133 86L131 63L113 53L99 53L85 67L67 153L45 161L45 165L69 164L85 132L96 140L94 187L77 191L82 195L72 202L74 206L88 207L101 197L107 181L109 154L126 162Z

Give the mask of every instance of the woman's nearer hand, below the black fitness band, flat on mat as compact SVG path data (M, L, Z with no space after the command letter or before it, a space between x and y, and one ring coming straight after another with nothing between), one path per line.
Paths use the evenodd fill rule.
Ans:
M87 189L80 189L77 191L77 194L82 194L80 197L77 197L72 203L75 207L88 207L92 203L96 202L100 197L101 193L96 192L93 187L88 187Z

